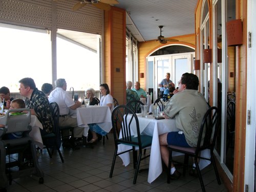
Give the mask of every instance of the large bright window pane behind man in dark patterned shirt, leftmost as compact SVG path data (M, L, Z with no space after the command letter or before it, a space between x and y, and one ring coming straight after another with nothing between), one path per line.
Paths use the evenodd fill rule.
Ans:
M51 34L47 30L0 24L1 87L19 92L19 80L34 79L41 90L52 82Z

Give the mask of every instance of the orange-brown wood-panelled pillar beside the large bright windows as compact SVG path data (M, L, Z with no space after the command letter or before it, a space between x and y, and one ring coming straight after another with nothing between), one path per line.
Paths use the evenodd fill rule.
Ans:
M111 95L119 104L124 103L125 95L125 11L112 7L105 11L104 75Z

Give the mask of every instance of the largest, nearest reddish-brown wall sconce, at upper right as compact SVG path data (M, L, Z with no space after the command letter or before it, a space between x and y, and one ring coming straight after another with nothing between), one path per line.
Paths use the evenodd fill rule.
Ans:
M226 22L227 46L239 46L243 44L242 20L230 20Z

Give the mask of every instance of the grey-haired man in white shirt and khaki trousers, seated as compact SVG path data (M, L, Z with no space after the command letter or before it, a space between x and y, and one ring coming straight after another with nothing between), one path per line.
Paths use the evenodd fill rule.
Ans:
M65 79L57 79L55 81L55 86L56 89L53 90L49 95L49 102L56 102L59 106L59 126L74 127L74 138L81 138L83 134L83 127L78 127L76 118L69 115L69 110L75 110L81 105L81 102L74 102L74 100L66 92L67 82ZM69 136L69 130L63 130L62 137L63 136ZM79 147L74 143L74 138L69 140L64 139L62 146L65 147L71 144L71 147L74 150L79 149Z

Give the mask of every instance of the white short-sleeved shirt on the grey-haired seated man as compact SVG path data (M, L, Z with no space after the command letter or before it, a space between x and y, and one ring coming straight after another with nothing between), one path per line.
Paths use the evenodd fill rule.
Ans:
M70 106L75 104L68 92L62 88L56 88L50 93L49 102L56 102L59 105L59 115L68 115Z

